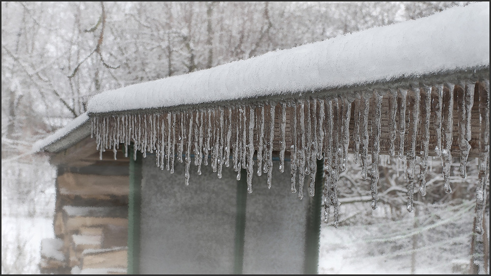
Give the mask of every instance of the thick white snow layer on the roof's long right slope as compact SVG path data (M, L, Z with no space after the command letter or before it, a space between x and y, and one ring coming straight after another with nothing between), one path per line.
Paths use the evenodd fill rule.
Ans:
M489 67L489 2L95 95L89 113L240 100ZM145 68L141 68L144 70Z

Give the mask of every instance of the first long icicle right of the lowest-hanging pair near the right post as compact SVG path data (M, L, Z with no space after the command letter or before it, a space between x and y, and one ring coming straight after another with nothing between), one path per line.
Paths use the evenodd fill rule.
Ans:
M371 192L372 192L372 209L377 209L377 203L379 200L377 183L379 182L379 154L380 154L380 135L381 135L381 121L382 121L382 96L374 91L375 96L375 121L374 127L375 135L373 138L372 148L372 176L371 176Z

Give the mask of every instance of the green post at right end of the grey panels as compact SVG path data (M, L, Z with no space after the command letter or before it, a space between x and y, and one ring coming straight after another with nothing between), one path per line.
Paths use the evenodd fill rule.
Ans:
M319 266L319 240L321 235L322 185L324 183L324 160L317 160L315 195L309 198L307 229L305 231L304 274L317 274Z

